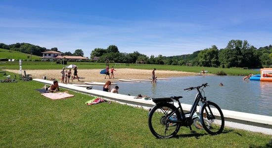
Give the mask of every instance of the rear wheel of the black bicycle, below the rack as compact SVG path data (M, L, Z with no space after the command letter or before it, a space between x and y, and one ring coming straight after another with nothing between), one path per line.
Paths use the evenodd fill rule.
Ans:
M180 111L169 103L158 104L149 112L148 127L157 138L172 138L181 127L181 122L173 121L181 121Z

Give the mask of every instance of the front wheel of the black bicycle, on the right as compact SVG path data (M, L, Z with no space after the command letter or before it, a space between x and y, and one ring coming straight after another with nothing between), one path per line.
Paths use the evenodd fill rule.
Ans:
M211 125L202 123L203 128L211 135L218 135L224 130L225 119L219 106L213 102L207 102L201 107L200 119L207 119Z

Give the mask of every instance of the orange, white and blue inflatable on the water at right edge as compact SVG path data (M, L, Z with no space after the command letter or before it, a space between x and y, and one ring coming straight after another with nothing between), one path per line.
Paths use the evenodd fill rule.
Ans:
M249 80L272 82L272 68L260 70L261 74L252 75Z

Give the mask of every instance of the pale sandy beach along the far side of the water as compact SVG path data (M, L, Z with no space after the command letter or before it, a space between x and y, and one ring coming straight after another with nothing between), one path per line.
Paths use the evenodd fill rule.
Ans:
M17 73L19 74L18 70L7 70L8 72ZM94 69L94 70L78 70L78 75L80 77L80 81L74 79L73 83L83 84L84 82L105 82L110 80L112 82L119 81L119 78L122 79L148 79L151 77L152 70L138 70L138 69L116 69L114 72L114 79L109 79L108 76L105 79L105 74L99 74L101 70ZM32 74L33 78L43 78L46 76L47 79L55 78L61 79L61 70L26 70L27 74ZM72 70L72 74L74 71ZM188 72L177 72L177 71L155 71L155 75L158 78L169 78L169 77L181 77L181 76L193 76L198 75L198 73L188 73ZM70 80L71 82L71 80Z

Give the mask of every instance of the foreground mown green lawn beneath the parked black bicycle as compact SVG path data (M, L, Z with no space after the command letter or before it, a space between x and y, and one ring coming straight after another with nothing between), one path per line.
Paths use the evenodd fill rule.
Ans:
M271 147L270 135L229 128L211 136L182 127L177 138L156 139L146 110L118 103L86 106L92 97L72 91L73 98L51 100L34 90L42 86L35 81L0 83L0 147Z

